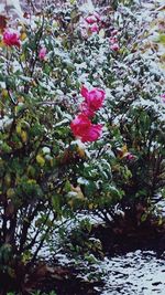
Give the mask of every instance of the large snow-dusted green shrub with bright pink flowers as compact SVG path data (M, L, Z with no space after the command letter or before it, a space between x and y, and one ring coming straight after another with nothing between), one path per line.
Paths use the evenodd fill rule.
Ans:
M108 222L163 190L162 76L128 11L95 13L91 30L77 6L48 7L1 38L0 275L18 288L61 218L85 209ZM82 85L103 93L95 107Z

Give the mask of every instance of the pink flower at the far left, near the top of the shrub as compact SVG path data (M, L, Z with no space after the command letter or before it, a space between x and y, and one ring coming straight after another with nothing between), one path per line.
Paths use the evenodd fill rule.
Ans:
M18 46L20 48L20 34L13 30L6 30L3 32L3 43L7 46Z

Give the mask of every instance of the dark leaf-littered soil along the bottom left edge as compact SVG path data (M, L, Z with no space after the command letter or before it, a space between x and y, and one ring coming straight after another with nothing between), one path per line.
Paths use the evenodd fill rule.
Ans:
M88 282L78 276L78 271L74 265L72 267L67 265L50 266L45 262L33 265L32 270L25 274L24 280L20 282L19 280L20 277L14 281L11 276L0 275L0 294L7 295L8 292L15 292L18 295L32 295L38 291L40 294L47 295L51 292L55 292L57 295L97 295L100 294L98 289L103 287L101 281Z

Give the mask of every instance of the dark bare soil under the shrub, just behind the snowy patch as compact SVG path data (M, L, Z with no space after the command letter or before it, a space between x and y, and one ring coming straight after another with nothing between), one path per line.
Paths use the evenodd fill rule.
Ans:
M154 220L133 224L119 219L109 226L95 225L92 234L101 241L103 253L110 256L136 250L153 250L161 256L165 251L165 223L158 225Z

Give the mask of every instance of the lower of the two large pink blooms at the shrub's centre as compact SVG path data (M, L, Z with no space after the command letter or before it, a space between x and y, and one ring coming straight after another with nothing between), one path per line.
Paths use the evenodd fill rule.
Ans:
M102 133L102 126L91 124L90 119L84 114L76 116L70 124L70 128L74 136L79 137L82 143L96 141Z

